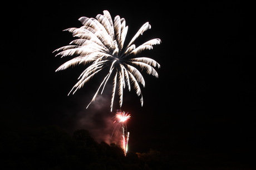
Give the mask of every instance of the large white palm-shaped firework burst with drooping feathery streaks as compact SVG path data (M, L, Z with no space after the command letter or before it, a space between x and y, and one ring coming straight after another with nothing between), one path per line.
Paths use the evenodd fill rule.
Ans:
M73 40L70 45L56 49L55 51L58 51L56 56L60 55L61 58L63 56L75 56L75 58L62 64L56 71L65 70L70 66L78 64L90 64L82 72L78 78L78 82L69 92L69 94L71 92L74 94L95 74L104 68L108 68L109 71L91 102L95 101L100 91L102 94L112 74L114 76L114 84L111 97L111 111L114 104L116 88L118 88L119 105L121 108L123 89L125 89L126 85L129 91L131 90L131 85L133 85L136 94L141 97L140 102L142 106L143 98L139 83L145 86L145 80L137 68L145 69L147 74L157 78L158 74L153 67L157 66L160 68L160 64L147 57L136 57L136 54L141 53L145 49L152 49L152 45L160 44L161 40L159 38L151 39L139 45L139 47L135 46L134 42L137 37L151 28L151 25L146 22L126 46L124 42L128 26L125 23L125 19L116 16L113 22L109 11L104 11L103 13L103 15L98 14L96 19L87 17L79 18L78 20L83 24L80 28L65 29L71 32L73 37L78 37L78 39Z

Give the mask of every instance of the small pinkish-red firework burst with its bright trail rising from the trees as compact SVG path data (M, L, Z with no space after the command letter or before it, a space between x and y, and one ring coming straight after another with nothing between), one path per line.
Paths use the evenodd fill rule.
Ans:
M131 115L129 114L128 115L128 112L127 114L125 114L125 112L123 111L117 111L116 115L115 115L115 122L119 122L121 124L119 124L119 127L116 129L116 134L118 133L119 131L119 128L120 126L122 126L122 149L124 150L124 153L125 153L125 156L126 156L126 152L128 150L128 142L129 142L129 135L130 135L130 132L127 131L127 120L130 119ZM115 131L115 130L114 130ZM113 133L114 133L113 131ZM112 134L113 135L113 134Z

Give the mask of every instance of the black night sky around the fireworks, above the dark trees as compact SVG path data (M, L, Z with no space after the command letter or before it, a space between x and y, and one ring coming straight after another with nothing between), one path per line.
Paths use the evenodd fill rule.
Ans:
M112 18L125 18L129 25L126 39L149 22L151 29L136 42L153 38L162 42L140 54L161 65L156 69L159 78L142 71L144 106L134 90L125 90L122 110L132 116L128 122L130 150L218 154L250 163L250 154L255 154L256 106L253 4L120 2L20 2L13 7L15 16L2 32L8 35L11 49L2 53L1 130L57 125L72 133L86 128L96 140L111 133L115 112L110 112L108 87L85 109L102 75L67 96L83 67L55 73L70 58L52 53L74 39L63 29L81 27L78 18L95 18L108 10Z

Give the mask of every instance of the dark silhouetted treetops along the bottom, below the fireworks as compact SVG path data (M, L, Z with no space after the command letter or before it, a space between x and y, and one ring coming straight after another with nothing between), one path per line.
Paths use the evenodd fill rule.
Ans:
M87 130L69 135L57 126L2 133L0 149L0 169L169 169L158 151L124 156L120 146L97 143Z

